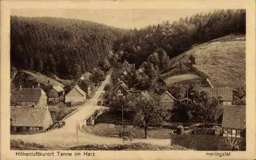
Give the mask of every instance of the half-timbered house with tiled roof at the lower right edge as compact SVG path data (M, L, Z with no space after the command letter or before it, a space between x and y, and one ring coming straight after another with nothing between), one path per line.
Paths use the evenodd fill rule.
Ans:
M223 106L222 128L224 137L245 137L246 107L245 105Z

